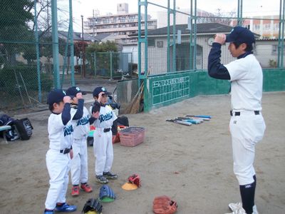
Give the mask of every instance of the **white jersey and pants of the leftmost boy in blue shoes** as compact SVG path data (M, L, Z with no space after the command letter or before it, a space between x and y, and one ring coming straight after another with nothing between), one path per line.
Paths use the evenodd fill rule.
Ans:
M74 113L71 113L73 118ZM49 150L46 153L46 167L50 176L48 195L46 197L46 209L53 210L56 203L66 203L66 190L68 188L68 172L71 158L69 153L60 151L71 148L73 138L73 126L71 121L63 125L61 113L51 113L48 118Z

